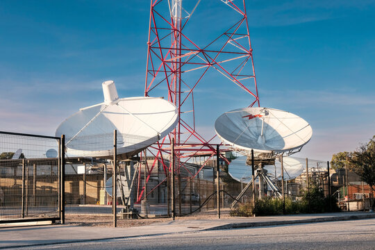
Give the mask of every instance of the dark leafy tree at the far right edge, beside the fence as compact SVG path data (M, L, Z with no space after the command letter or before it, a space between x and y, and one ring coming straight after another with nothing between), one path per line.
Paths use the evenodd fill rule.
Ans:
M372 191L375 185L375 135L369 142L352 153L349 158L351 169L369 184ZM370 192L370 195L372 192ZM372 204L375 207L375 202Z

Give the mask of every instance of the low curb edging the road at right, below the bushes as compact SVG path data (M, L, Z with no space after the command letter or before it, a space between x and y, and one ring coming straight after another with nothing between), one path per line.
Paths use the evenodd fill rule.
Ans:
M222 226L214 226L212 228L206 228L201 231L212 231L212 230L222 230L231 228L249 228L257 226L278 226L278 225L288 225L288 224L303 224L303 223L317 223L317 222L339 222L346 220L356 220L356 219L372 219L375 218L375 213L370 215L347 215L338 217L322 217L313 219L295 219L289 221L280 222L242 222L242 223L231 223Z

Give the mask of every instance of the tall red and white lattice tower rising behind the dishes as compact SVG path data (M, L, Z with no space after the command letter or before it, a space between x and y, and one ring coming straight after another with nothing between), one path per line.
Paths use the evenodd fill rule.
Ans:
M197 37L194 35L196 31L199 34L202 31L194 13L199 10L204 12L204 17L215 14L210 8L199 9L201 5L200 0L151 0L144 96L160 96L160 91L163 91L179 113L175 130L153 147L158 153L153 153L156 160L151 169L161 161L166 174L169 166L163 163L163 153L170 153L172 137L177 171L194 156L216 154L215 147L210 145L213 138L206 140L199 134L194 117L197 108L194 106L194 90L207 80L204 76L208 72L217 72L224 76L223 81L238 85L249 93L249 106L259 106L245 1L213 1L211 6L222 5L220 7L225 7L226 12L219 19L208 18L209 21L201 22L212 22L212 26L224 24L226 28L211 40L204 38L203 31L196 42L192 37ZM192 20L194 27L189 26ZM198 45L201 40L206 41L203 46ZM192 173L192 177L196 174ZM141 197L142 192L138 192L138 201Z

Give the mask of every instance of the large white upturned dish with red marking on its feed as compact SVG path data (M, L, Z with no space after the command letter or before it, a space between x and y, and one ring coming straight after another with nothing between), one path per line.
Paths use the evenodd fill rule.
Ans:
M313 130L304 119L274 108L239 108L224 113L215 122L219 138L249 156L260 153L293 153L306 144Z

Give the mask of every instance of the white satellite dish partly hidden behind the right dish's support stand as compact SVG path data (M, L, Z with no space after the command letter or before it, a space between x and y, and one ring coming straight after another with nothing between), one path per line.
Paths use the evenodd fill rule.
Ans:
M308 167L312 169L317 165L324 163L322 160L310 160L308 159ZM281 162L276 158L275 165L265 165L263 169L267 170L268 175L275 176L276 167L276 178L281 179ZM297 176L301 175L302 172L306 171L306 158L298 158L292 156L283 157L284 167L284 180L292 180ZM228 173L236 181L242 180L243 183L249 183L251 181L251 166L247 165L247 156L240 156L231 161L228 165Z

